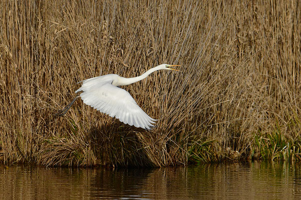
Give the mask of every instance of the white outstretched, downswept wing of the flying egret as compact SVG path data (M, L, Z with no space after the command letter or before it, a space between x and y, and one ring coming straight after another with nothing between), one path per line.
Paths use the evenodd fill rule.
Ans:
M156 119L148 116L129 92L112 85L111 82L79 90L83 90L80 96L84 103L112 117L115 116L121 122L146 129L154 126L152 123L155 123Z

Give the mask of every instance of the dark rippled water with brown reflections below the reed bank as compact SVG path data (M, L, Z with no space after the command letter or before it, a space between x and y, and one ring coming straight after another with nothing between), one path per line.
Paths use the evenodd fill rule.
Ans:
M298 164L157 169L0 165L0 171L0 199L301 199Z

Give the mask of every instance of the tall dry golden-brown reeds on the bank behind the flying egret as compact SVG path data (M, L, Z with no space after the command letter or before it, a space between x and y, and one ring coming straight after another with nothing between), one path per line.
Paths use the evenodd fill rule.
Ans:
M1 1L2 161L165 166L249 159L254 134L275 124L298 137L299 10L275 0ZM183 72L124 86L159 119L151 131L80 100L52 117L80 80L161 63Z

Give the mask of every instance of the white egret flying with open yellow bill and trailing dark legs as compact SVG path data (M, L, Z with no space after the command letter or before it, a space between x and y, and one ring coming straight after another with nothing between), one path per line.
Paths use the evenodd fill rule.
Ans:
M149 69L142 75L132 78L121 77L117 74L107 74L82 80L80 81L83 82L82 86L75 92L83 92L77 95L64 109L54 115L63 116L74 101L78 97L81 97L87 105L90 105L103 113L109 114L111 117L115 116L123 123L150 129L154 126L152 123L155 123L156 119L147 115L139 105L137 105L131 94L118 86L137 82L146 78L152 72L161 69L180 71L169 68L171 66L181 65L160 64Z

